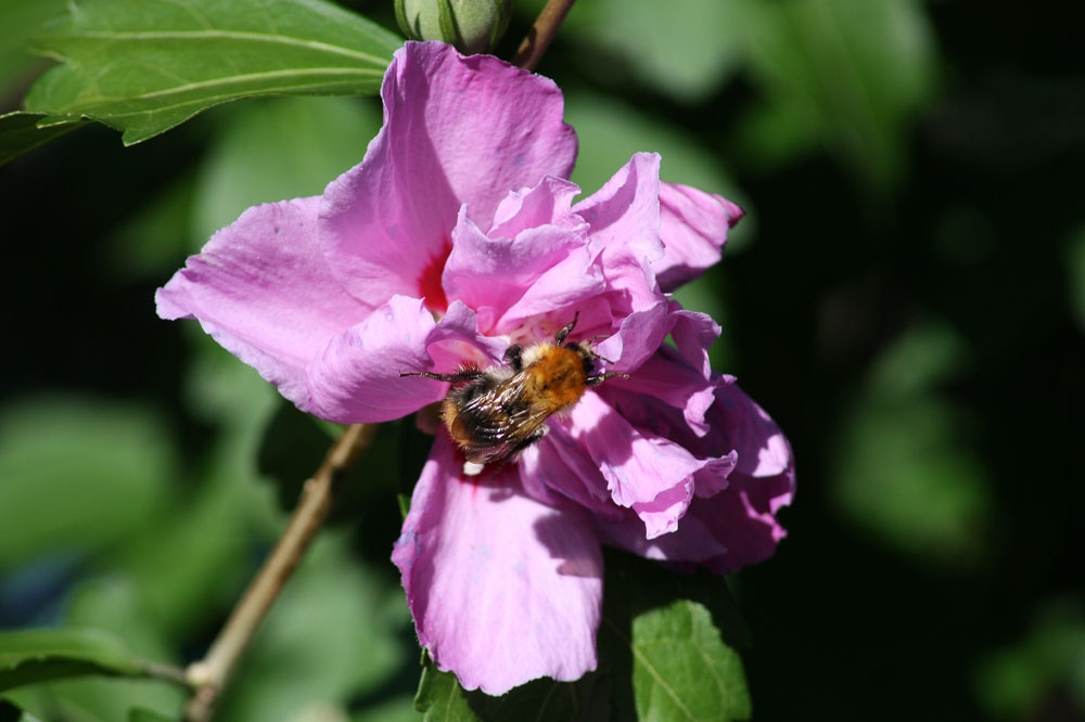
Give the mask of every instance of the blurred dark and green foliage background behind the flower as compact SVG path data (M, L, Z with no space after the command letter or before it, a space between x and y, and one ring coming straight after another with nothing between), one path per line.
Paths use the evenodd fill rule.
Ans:
M343 3L395 29L391 2ZM748 218L678 296L788 433L790 530L733 580L755 720L1085 719L1085 55L1074 4L582 0L538 72L573 180L636 151ZM540 2L522 1L511 56ZM0 3L0 112L60 0ZM246 206L361 159L372 100L268 99L125 149L79 130L0 167L0 628L199 657L329 436L153 293ZM418 439L382 428L220 719L413 720L388 562ZM375 622L375 623L374 623ZM13 698L164 712L157 682Z

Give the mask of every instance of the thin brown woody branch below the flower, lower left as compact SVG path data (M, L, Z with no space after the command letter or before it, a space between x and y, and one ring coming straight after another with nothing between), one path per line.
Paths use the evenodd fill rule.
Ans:
M195 687L195 695L184 709L188 722L210 720L218 695L230 679L238 658L248 646L271 603L328 516L336 481L350 468L359 453L369 447L375 428L372 424L346 427L328 450L316 475L305 482L302 499L290 523L256 579L233 608L207 656L186 670L189 683Z

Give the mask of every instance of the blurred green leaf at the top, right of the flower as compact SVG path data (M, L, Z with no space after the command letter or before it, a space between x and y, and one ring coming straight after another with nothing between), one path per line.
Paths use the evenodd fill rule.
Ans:
M935 53L917 0L741 0L746 63L767 104L735 146L751 163L825 145L872 189L904 170L905 131L934 89Z

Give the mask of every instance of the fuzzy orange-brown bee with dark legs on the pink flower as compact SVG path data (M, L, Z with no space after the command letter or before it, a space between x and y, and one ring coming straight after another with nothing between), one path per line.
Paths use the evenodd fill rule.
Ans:
M552 341L505 351L505 366L463 366L456 373L400 373L450 382L452 387L441 404L441 417L452 441L468 462L482 465L511 460L541 439L546 421L569 412L589 386L628 374L599 373L597 361L611 363L592 348L591 340L566 343L576 326L562 327ZM481 468L481 466L480 466Z

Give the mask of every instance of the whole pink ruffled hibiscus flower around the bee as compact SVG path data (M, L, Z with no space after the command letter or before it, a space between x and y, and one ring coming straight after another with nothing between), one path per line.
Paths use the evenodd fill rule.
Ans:
M382 422L514 343L601 336L608 370L512 463L477 477L444 430L393 560L421 643L501 694L596 666L600 543L717 572L769 556L791 501L787 439L730 376L719 327L667 296L719 259L741 211L637 154L574 203L576 137L548 79L408 42L384 128L320 197L250 208L156 296L304 411ZM665 344L667 337L674 345Z

